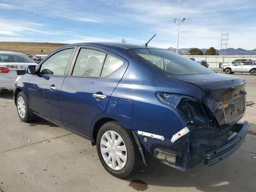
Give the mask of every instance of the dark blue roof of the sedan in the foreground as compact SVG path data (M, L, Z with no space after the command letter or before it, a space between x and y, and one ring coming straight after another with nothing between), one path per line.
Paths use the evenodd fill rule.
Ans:
M68 44L63 47L66 46L74 46L74 45L87 45L87 46L95 46L95 47L99 47L99 48L116 48L116 49L120 49L120 50L129 50L129 49L145 49L145 48L155 48L155 49L160 49L157 47L153 47L153 46L143 46L143 45L138 45L138 44L129 44L129 43L112 43L112 42L99 42L99 43L75 43L75 44Z

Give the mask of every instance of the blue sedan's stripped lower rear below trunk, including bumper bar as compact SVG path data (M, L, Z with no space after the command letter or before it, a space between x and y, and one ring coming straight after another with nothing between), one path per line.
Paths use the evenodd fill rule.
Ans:
M174 143L169 138L160 140L150 137L144 142L145 136L137 136L142 141L142 154L150 154L164 164L185 171L202 162L208 167L228 157L242 145L247 130L248 122L244 121L218 131L190 131ZM233 135L234 133L237 134Z

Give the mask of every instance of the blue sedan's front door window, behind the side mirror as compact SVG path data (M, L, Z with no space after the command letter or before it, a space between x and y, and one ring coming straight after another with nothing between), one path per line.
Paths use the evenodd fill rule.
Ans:
M64 75L68 60L74 48L65 49L50 56L40 68L40 74L43 75Z

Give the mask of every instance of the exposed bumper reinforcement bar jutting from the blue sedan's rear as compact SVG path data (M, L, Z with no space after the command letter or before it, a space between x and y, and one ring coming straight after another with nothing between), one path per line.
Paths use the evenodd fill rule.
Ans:
M245 140L246 132L248 130L248 122L245 121L243 124L236 123L232 126L231 131L237 134L226 143L207 150L204 158L204 165L211 166L220 160L228 157L235 150L237 150Z

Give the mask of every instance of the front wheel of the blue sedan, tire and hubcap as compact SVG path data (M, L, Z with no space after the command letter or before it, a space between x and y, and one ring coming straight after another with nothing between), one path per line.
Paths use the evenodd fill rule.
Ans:
M18 93L16 98L16 104L20 120L26 123L34 120L33 114L30 114L28 101L23 91Z

